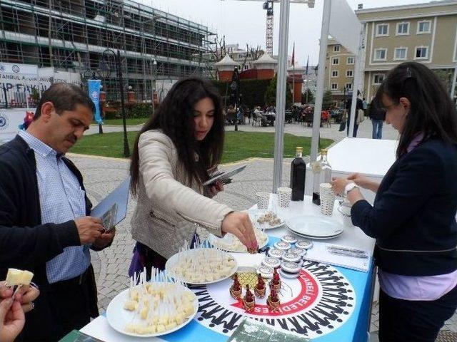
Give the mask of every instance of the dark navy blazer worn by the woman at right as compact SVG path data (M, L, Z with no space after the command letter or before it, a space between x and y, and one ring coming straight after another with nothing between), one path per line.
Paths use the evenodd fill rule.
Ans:
M393 163L373 207L352 222L376 238L376 264L393 274L433 276L457 269L457 148L428 140Z

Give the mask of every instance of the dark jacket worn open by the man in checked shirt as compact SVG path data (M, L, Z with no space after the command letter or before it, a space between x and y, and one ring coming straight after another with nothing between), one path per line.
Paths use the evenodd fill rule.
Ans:
M65 157L62 160L84 190L79 170ZM0 175L0 279L5 279L8 268L27 269L36 284L46 286L46 261L65 247L81 244L76 224L41 224L35 154L19 135L0 146ZM91 206L86 197L86 214Z

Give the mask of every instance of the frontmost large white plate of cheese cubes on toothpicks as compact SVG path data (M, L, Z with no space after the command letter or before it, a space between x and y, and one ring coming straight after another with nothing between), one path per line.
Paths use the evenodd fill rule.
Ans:
M199 310L194 292L181 284L151 282L118 294L106 309L114 330L134 337L166 335L186 326Z

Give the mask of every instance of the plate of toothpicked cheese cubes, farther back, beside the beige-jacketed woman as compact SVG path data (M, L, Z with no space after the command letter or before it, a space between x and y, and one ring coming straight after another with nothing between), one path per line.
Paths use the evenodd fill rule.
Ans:
M174 254L166 261L165 269L176 280L203 285L229 278L238 269L238 263L219 249L196 248Z

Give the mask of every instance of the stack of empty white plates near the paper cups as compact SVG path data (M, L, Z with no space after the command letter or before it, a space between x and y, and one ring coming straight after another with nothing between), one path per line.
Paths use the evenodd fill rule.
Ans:
M343 232L343 226L326 217L296 216L288 219L291 232L307 239L333 239Z

